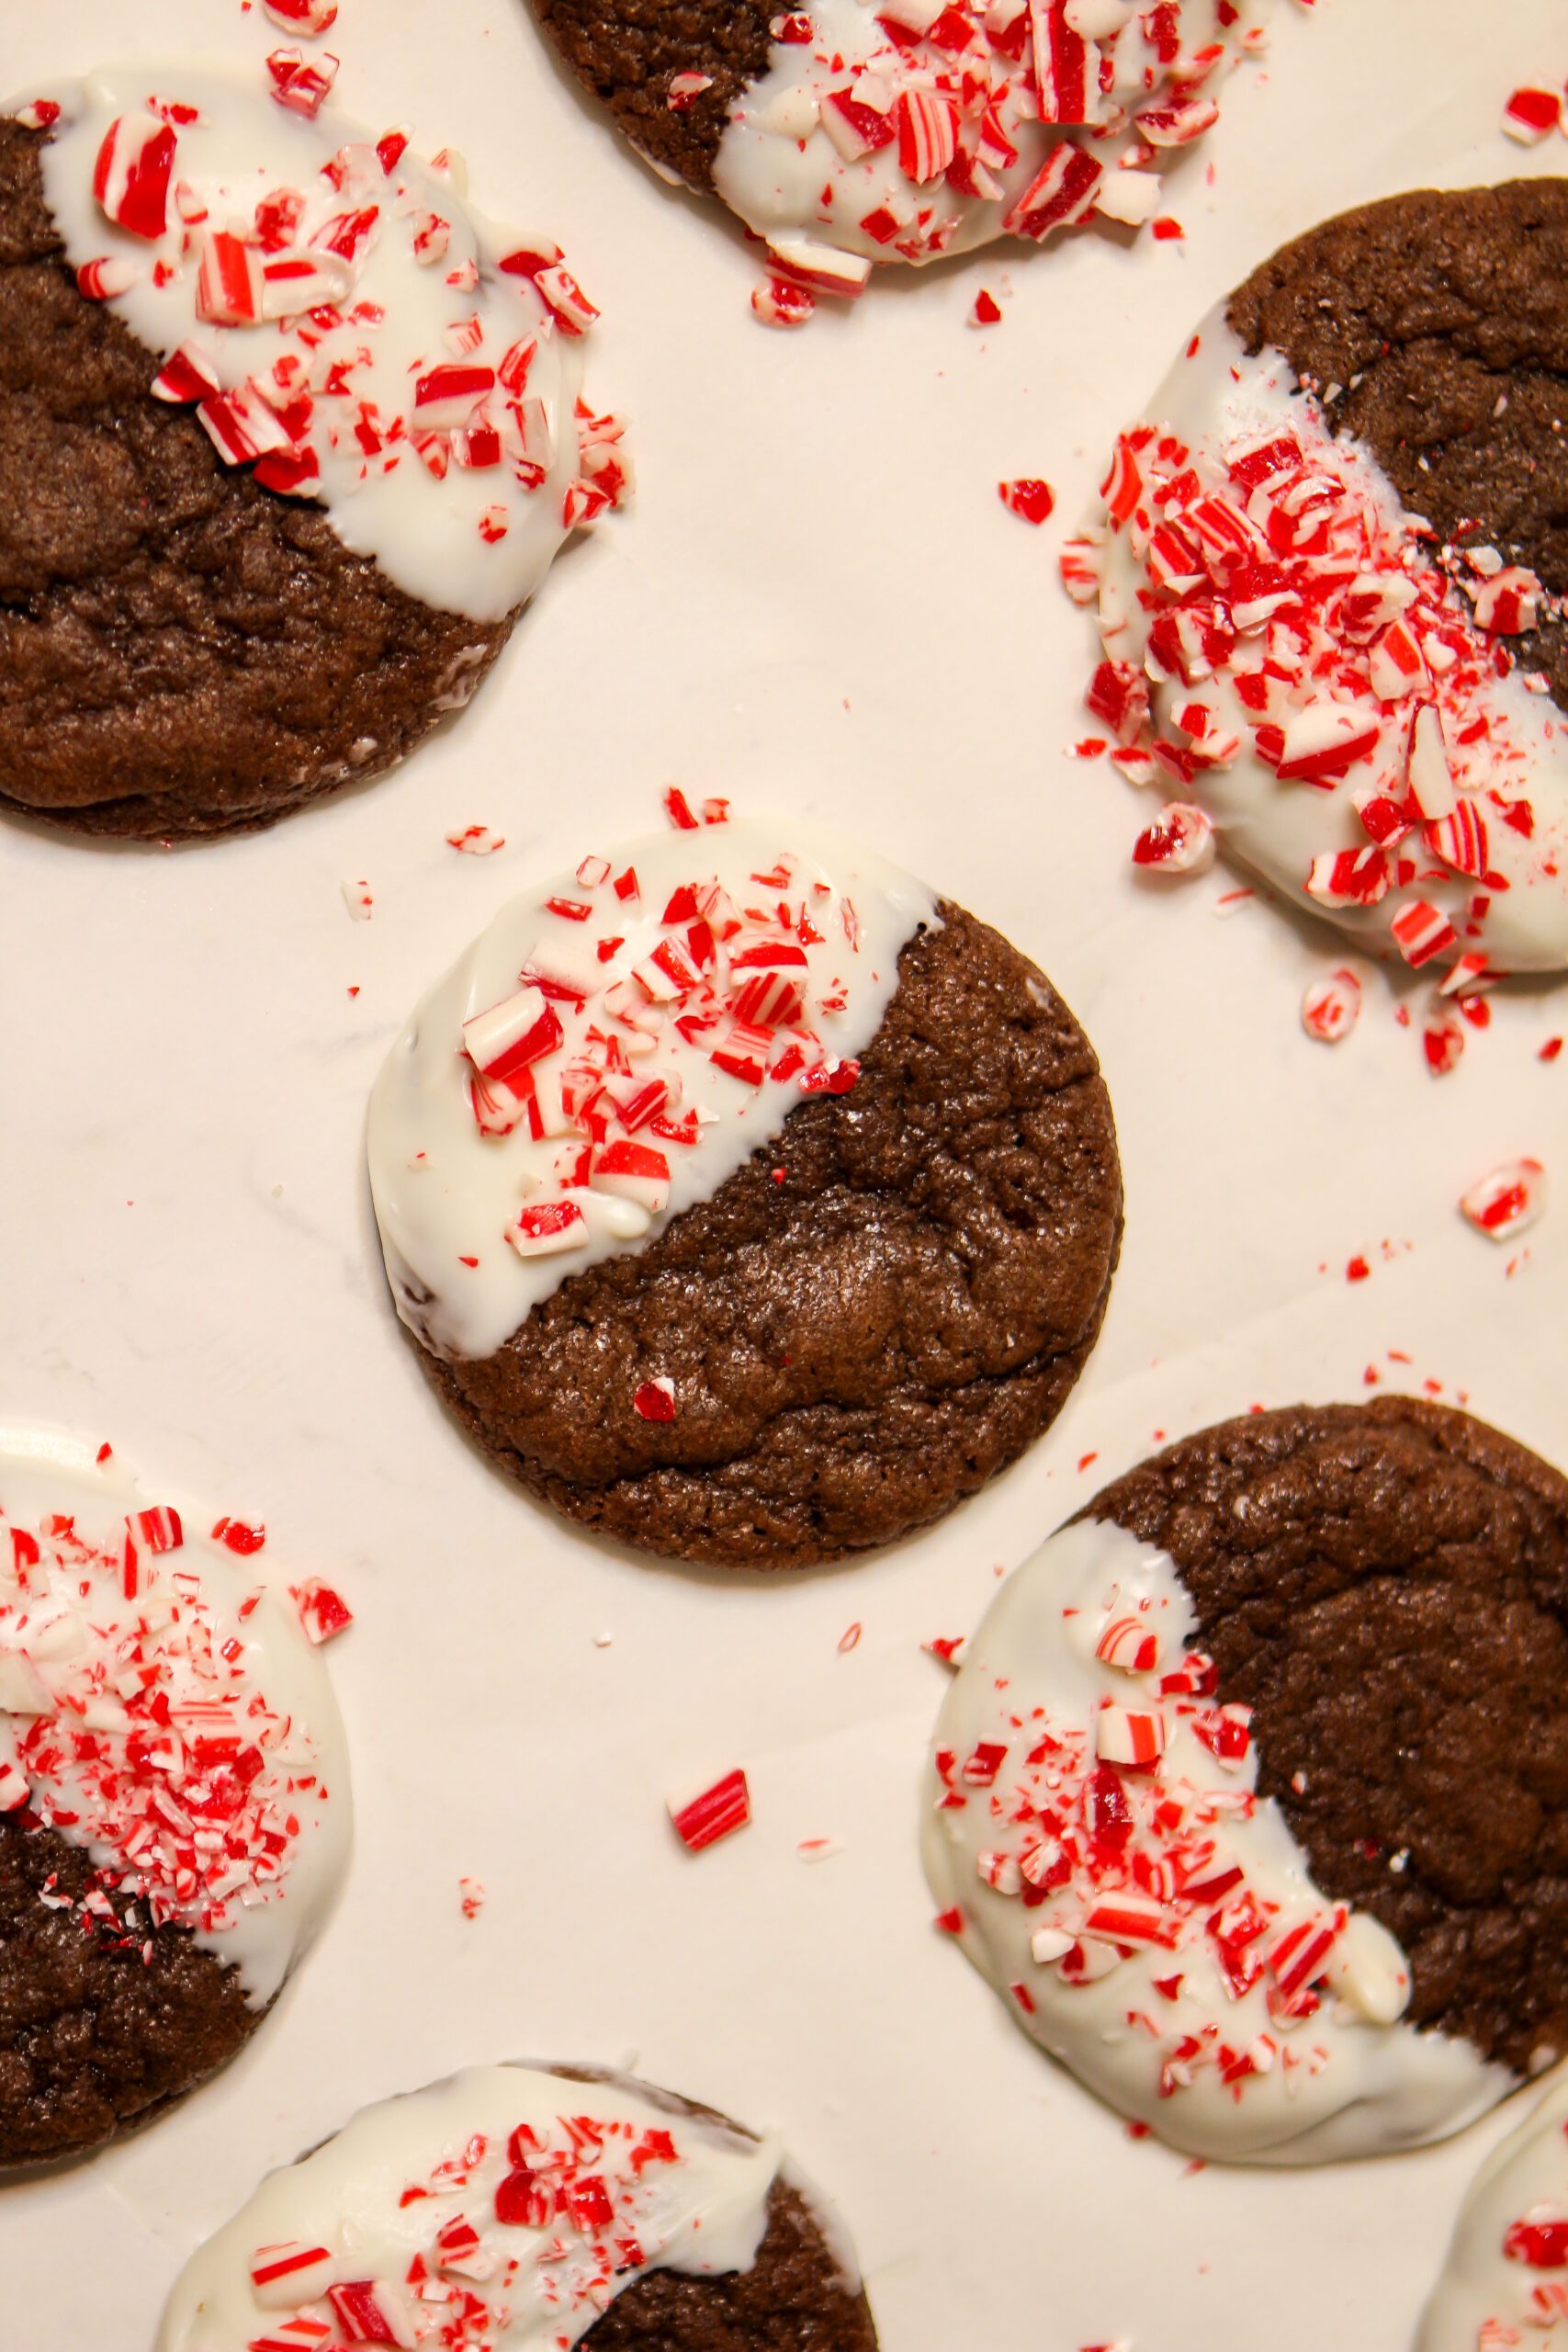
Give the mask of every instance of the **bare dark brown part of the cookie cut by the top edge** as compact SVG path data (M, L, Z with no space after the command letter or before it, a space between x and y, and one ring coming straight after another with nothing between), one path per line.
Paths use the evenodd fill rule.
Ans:
M712 188L729 111L766 71L778 9L757 0L534 0L534 14L632 146L689 186ZM705 73L712 87L672 108L677 73Z

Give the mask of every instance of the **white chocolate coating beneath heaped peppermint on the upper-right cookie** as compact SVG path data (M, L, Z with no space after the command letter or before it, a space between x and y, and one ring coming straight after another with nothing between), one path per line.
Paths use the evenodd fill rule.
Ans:
M1439 964L1460 953L1483 953L1493 971L1561 969L1568 964L1568 715L1547 694L1530 691L1519 668L1495 675L1493 659L1507 640L1486 637L1474 626L1467 600L1436 572L1382 468L1349 437L1328 435L1316 400L1302 393L1291 365L1276 350L1246 358L1222 308L1201 322L1194 341L1194 355L1178 360L1150 402L1150 421L1175 435L1201 482L1225 492L1232 503L1241 499L1227 473L1227 456L1276 433L1295 435L1312 475L1338 485L1342 513L1354 517L1352 541L1373 546L1373 555L1363 555L1356 588L1378 588L1382 581L1394 583L1394 595L1406 595L1415 593L1415 583L1425 614L1439 616L1446 607L1441 642L1439 630L1427 642L1439 647L1448 668L1422 673L1415 689L1380 696L1375 684L1392 680L1371 670L1373 630L1333 642L1340 623L1331 607L1331 635L1319 647L1314 675L1302 684L1279 687L1269 696L1267 717L1286 727L1295 717L1300 724L1307 706L1335 703L1347 729L1366 727L1375 731L1375 741L1328 788L1279 781L1258 755L1260 713L1241 701L1237 680L1258 673L1265 656L1295 668L1291 612L1246 628L1232 656L1213 670L1199 663L1192 682L1168 675L1150 654L1152 609L1168 607L1171 600L1150 590L1145 522L1159 520L1159 513L1143 499L1124 527L1110 529L1100 557L1105 652L1117 663L1147 670L1157 736L1185 746L1178 713L1201 703L1215 736L1239 739L1234 757L1199 762L1190 779L1171 786L1173 797L1197 802L1213 818L1225 851L1288 903L1321 915L1363 946L1387 953L1399 943L1396 922L1410 908L1427 906L1453 931L1436 955ZM1161 461L1159 480L1180 463ZM1253 506L1246 510L1262 513ZM1262 555L1267 560L1267 546ZM1354 557L1340 569L1354 574ZM1335 906L1307 894L1314 858L1371 851L1361 804L1406 797L1410 727L1420 706L1429 706L1441 727L1450 769L1448 804L1460 814L1474 811L1483 823L1486 880L1455 870L1434 847L1434 835L1415 826L1389 847L1389 858L1401 863L1378 903ZM1432 727L1429 720L1420 724ZM1476 727L1483 739L1467 748L1465 736ZM1528 830L1516 830L1519 804ZM1481 910L1476 901L1483 901Z

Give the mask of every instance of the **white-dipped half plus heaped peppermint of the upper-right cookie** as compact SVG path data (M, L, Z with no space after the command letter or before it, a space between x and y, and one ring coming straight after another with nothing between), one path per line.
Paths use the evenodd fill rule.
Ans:
M1465 960L1474 990L1566 962L1561 722L1514 670L1552 600L1495 548L1436 546L1286 362L1227 336L1211 320L1161 393L1192 426L1124 433L1103 534L1063 553L1100 607L1110 757L1410 969Z

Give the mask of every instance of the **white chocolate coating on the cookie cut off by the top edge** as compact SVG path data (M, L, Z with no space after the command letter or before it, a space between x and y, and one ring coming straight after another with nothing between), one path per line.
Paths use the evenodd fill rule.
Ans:
M1105 167L1100 209L1107 219L1147 221L1159 186L1154 172L1168 148L1154 148L1154 172L1121 172L1124 153L1147 165L1128 125L1147 108L1171 106L1175 82L1201 87L1211 99L1255 5L1241 0L1229 9L1222 0L1180 0L1180 49L1166 56L1147 38L1145 16L1131 0L1067 0L1070 19L1091 42L1088 80L1100 82L1105 59L1107 87L1060 122L1039 120L1032 16L1023 0L999 0L990 12L985 5L964 7L976 28L969 49L919 45L910 52L889 38L870 0L816 0L804 14L813 40L773 40L766 73L743 92L724 129L715 188L785 259L795 259L797 247L830 247L867 261L929 261L1004 235L1006 216L1070 125L1086 129L1091 153ZM940 14L940 0L905 0L898 7L900 24L922 28ZM1041 33L1046 14L1041 0ZM997 47L987 26L997 26L1009 45ZM957 186L952 174L910 179L898 139L846 158L823 127L823 101L842 89L884 115L903 92L954 94L959 148L976 148L980 174L959 167L966 186ZM985 139L987 108L992 139ZM1009 148L1016 151L1013 162L1004 160ZM1126 181L1138 186L1117 188ZM879 233L863 226L867 216L884 216ZM889 216L898 223L893 233Z

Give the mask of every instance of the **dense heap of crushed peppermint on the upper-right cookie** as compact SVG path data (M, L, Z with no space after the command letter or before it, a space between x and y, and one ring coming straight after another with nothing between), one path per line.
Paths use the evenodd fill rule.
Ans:
M1347 793L1363 842L1309 858L1302 896L1371 908L1403 894L1401 957L1453 960L1446 988L1474 993L1497 976L1479 946L1509 889L1490 854L1497 828L1535 835L1528 753L1488 689L1514 668L1507 640L1549 600L1495 548L1439 548L1420 517L1387 517L1354 452L1307 414L1309 430L1267 430L1201 466L1159 426L1119 437L1103 496L1112 539L1138 557L1147 652L1143 668L1103 661L1088 708L1135 783L1187 790L1253 757L1281 788ZM1065 548L1077 602L1095 600L1100 564L1093 539ZM1168 731L1150 684L1171 689ZM1225 710L1215 684L1229 689ZM1523 684L1547 691L1540 675ZM1135 858L1192 863L1206 833L1206 814L1178 800ZM1458 922L1422 894L1453 882L1467 891Z

